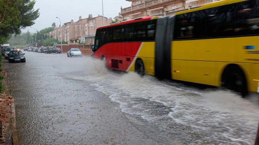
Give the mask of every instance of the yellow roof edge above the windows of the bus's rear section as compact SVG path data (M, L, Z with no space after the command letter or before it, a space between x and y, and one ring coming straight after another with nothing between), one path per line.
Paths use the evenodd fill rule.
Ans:
M180 15L180 14L183 14L183 13L190 13L190 12L194 12L194 11L200 11L200 10L204 10L204 9L208 9L208 8L214 8L214 7L218 7L218 6L224 6L224 5L228 5L228 4L234 4L234 3L238 3L238 2L242 2L242 1L248 1L248 0L215 1L215 2L212 2L210 4L204 4L204 5L202 5L198 8L193 8L193 9L190 9L190 10L177 12L176 15Z

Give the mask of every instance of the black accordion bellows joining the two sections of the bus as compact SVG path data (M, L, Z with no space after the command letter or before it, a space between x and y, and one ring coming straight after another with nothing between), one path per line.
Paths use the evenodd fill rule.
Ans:
M171 44L175 16L157 19L155 37L155 76L171 79Z

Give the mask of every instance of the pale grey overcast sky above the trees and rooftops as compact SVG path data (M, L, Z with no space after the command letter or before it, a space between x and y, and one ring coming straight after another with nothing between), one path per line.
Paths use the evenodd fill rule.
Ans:
M104 16L107 18L114 18L122 8L131 5L126 0L103 0ZM60 24L56 17L61 19L62 25L70 22L72 19L78 21L79 16L87 18L89 14L97 16L102 15L102 0L36 0L35 9L40 9L40 16L32 26L37 30L50 27L53 22ZM29 28L29 31L34 33L35 30ZM27 32L28 28L22 30Z

